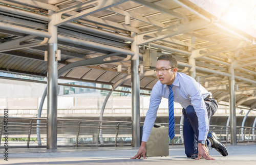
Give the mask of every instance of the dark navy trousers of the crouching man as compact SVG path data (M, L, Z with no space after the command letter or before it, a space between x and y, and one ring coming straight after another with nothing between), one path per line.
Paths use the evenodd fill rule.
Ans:
M212 117L218 108L218 103L215 99L204 99L206 110L208 113L208 119ZM185 146L185 154L187 157L191 157L195 153L198 147L198 118L195 109L192 105L182 109L182 114L184 116L183 124L183 139ZM207 141L207 140L206 140ZM211 144L207 141L208 149L210 149Z

